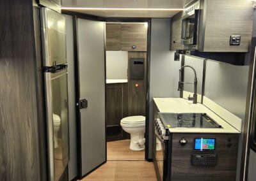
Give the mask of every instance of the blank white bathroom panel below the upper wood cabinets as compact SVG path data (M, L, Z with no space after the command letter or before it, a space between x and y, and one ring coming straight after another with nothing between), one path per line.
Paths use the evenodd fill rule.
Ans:
M127 79L128 52L106 51L107 79Z

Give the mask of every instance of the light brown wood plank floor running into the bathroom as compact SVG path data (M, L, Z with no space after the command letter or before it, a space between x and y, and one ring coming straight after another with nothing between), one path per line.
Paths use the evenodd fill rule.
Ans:
M108 142L108 161L81 181L156 181L152 162L144 161L144 151L129 149L130 140Z

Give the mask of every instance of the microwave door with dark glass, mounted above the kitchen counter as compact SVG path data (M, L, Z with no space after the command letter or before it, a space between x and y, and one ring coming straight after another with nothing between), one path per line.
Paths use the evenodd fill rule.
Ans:
M182 45L197 45L199 10L182 17Z

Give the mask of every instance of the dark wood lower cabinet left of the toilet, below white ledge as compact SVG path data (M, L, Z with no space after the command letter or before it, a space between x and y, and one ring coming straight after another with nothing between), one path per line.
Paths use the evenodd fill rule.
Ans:
M127 139L128 134L120 126L120 121L124 117L127 117L127 83L108 83L106 85L107 141Z

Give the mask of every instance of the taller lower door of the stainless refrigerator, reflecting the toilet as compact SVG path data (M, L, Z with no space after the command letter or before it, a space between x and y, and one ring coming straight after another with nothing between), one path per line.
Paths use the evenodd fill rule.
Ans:
M67 69L45 72L49 173L59 180L69 161Z

